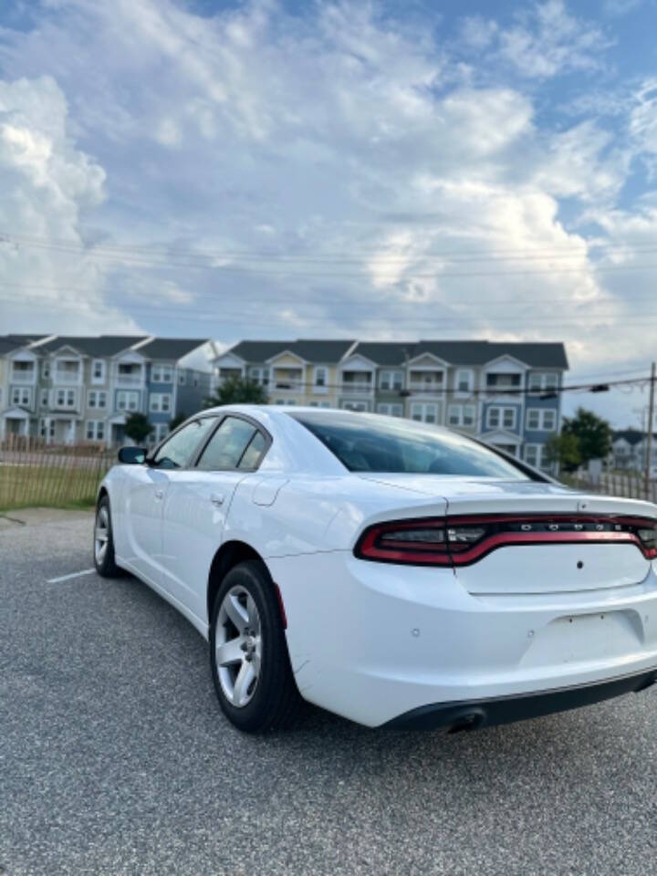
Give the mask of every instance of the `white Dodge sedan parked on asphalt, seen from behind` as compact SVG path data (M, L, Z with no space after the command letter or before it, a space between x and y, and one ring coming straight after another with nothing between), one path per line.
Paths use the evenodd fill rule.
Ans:
M657 506L464 436L318 408L199 413L99 488L96 568L210 642L224 714L503 724L657 679Z

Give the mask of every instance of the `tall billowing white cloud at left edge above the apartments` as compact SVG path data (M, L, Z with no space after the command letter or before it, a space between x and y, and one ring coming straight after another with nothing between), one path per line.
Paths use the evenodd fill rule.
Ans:
M46 239L80 247L80 216L104 199L105 173L68 136L67 103L47 76L0 80L0 331L134 328L108 306L97 266ZM78 287L85 289L80 296Z

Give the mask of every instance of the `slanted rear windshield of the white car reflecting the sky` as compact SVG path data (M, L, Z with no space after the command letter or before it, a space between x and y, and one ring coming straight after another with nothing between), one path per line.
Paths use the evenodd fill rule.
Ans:
M527 475L463 435L421 422L351 412L298 412L300 422L350 472L463 474L527 481Z

